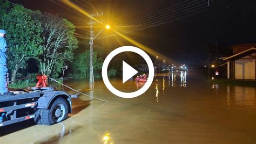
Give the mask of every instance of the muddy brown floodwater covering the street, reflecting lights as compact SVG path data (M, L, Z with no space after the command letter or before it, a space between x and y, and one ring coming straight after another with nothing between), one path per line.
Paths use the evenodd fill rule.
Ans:
M143 87L134 81L111 83L122 91ZM211 85L200 74L170 74L155 77L142 96L125 99L102 81L96 81L93 91L87 91L84 81L65 84L109 103L80 95L67 120L0 128L0 143L256 143L253 87Z

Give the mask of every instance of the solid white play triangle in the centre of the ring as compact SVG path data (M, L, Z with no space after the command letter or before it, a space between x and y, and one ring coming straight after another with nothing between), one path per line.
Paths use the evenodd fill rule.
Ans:
M123 83L128 81L131 77L139 73L136 69L131 67L125 61L123 61Z

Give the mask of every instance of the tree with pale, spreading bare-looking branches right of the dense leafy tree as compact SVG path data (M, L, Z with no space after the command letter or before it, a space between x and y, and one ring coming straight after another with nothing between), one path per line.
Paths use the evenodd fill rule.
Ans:
M43 27L43 54L38 59L39 67L42 74L58 76L65 61L72 60L73 49L77 48L78 41L73 35L75 26L50 13L44 13L40 19Z

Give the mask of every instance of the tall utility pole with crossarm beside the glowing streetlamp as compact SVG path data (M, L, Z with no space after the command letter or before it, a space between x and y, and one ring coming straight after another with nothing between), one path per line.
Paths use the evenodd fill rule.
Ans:
M102 16L103 13L97 13L97 14L92 14L90 17L89 23L87 23L90 26L90 78L89 82L94 83L94 76L93 76L93 39L94 39L94 31L93 31L93 25L96 24L97 22L94 21L92 18L95 16Z

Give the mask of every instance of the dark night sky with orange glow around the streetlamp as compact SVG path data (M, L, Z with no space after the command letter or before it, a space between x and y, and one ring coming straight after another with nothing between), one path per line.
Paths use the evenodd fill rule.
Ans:
M64 6L63 3L57 0L53 2L46 0L12 0L11 2L22 4L25 8L31 10L58 13L61 17L70 20L79 27L87 26L89 20L53 3L56 2ZM88 0L86 2L83 0L73 2L77 4L80 2L83 5L79 5L84 9L95 12L92 6L86 3ZM118 26L126 24L127 21L149 15L181 2L185 3L185 0L91 0L93 6L104 12L104 16L98 17L98 19L113 25L113 28L117 28L117 30L119 30ZM189 2L192 1L187 1L187 3ZM206 8L207 11L126 35L161 54L169 56L171 59L190 65L205 63L205 42L207 40L218 41L221 45L227 47L234 44L256 42L256 1L215 0L213 3L215 2L218 3ZM143 25L146 26L145 23ZM89 28L84 28L89 30ZM100 28L96 27L95 30L99 31ZM129 28L124 28L124 31L128 30ZM79 29L77 29L77 33L88 35L87 31ZM102 34L105 34L105 32ZM116 38L120 44L117 43ZM107 49L131 45L120 37L116 38L100 39L98 42L105 44Z

